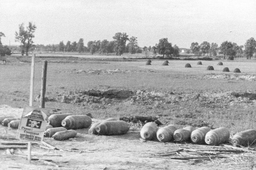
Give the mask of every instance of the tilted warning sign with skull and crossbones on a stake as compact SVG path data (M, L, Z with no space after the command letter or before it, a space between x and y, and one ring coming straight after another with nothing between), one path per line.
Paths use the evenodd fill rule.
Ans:
M24 106L17 139L42 142L47 122L47 110Z

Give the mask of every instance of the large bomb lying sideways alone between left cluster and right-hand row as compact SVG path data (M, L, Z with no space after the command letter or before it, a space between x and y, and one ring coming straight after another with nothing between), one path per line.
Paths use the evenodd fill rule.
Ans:
M126 134L130 125L125 121L103 121L96 126L96 131L102 135L121 135Z

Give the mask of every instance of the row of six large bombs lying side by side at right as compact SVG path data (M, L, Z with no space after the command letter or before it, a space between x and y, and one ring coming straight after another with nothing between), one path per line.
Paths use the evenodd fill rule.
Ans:
M211 130L209 127L195 129L191 126L177 129L174 125L159 128L155 122L148 122L140 131L140 136L145 140L158 139L160 142L188 142L195 144L206 143L208 145L219 145L229 141L230 133L227 128L220 127ZM256 142L256 130L250 129L236 133L232 138L234 146L250 146Z

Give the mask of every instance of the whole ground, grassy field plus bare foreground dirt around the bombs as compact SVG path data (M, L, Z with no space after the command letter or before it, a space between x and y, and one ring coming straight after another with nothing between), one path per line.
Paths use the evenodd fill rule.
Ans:
M102 60L103 59L103 60ZM35 63L34 106L40 93L42 62L48 60L46 108L60 109L62 113L91 113L93 121L120 116L157 116L163 124L174 124L178 128L186 125L211 128L226 127L231 134L256 128L256 100L235 97L232 92L256 93L256 61L198 61L136 59L62 59L37 58ZM218 66L218 62L223 66ZM192 68L185 68L190 63ZM213 66L214 70L206 70ZM222 72L228 67L230 72ZM233 73L239 68L241 73ZM17 108L22 112L29 104L30 59L7 58L0 64L0 113L4 108ZM109 91L109 97L85 95L86 92ZM6 106L8 105L8 106ZM135 126L135 125L134 125ZM133 127L134 127L133 126ZM3 126L0 132L7 131ZM62 167L45 166L35 162L26 163L25 158L8 155L4 150L0 158L2 166L26 167L26 169L253 169L256 155L233 154L229 158L188 161L159 157L160 152L175 151L181 147L205 149L206 145L186 143L141 143L139 125L122 136L91 136L88 129L78 130L76 140L54 141L51 145L60 148L76 148L85 152L47 151L34 145L35 155L52 154ZM26 151L17 151L26 154ZM19 161L18 160L23 160ZM254 168L255 169L255 168Z

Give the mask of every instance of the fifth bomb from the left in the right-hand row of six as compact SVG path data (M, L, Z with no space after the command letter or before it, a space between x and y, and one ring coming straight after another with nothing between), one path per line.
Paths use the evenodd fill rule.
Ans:
M224 127L220 127L211 130L205 135L205 143L208 145L219 145L220 143L227 142L229 140L229 130Z

